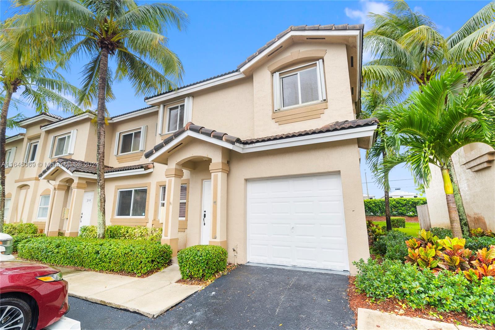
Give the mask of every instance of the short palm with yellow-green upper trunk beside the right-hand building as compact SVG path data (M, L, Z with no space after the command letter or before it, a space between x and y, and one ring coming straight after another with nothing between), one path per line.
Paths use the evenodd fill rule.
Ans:
M464 87L464 73L456 68L430 79L419 91L395 107L384 110L385 122L396 146L405 150L388 157L380 168L382 176L395 165L405 163L420 184L428 186L430 164L440 167L446 193L452 234L462 237L447 162L462 146L482 142L495 146L495 102L483 92L483 83Z

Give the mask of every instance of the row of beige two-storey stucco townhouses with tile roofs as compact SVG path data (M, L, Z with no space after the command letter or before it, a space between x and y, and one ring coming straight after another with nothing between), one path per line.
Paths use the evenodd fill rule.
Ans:
M107 224L162 227L174 254L214 244L230 262L354 273L369 257L359 148L378 122L355 119L362 33L292 26L236 70L111 117ZM66 236L97 223L92 118L44 113L7 139L9 161L31 166L7 173L9 222Z

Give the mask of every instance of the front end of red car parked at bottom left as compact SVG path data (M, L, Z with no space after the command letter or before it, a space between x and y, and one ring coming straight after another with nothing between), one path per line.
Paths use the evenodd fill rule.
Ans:
M0 263L0 330L43 329L69 311L67 281L45 265Z

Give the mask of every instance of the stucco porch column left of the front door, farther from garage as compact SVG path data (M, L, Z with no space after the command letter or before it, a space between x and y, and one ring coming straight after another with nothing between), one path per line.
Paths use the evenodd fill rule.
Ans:
M179 207L181 199L181 179L184 171L181 168L171 167L165 170L167 178L165 191L165 217L161 233L161 244L168 244L172 248L172 257L177 255L179 244Z

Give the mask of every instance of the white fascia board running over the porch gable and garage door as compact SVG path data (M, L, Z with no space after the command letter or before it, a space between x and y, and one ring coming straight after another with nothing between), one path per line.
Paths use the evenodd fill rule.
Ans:
M182 133L179 137L173 139L172 141L167 143L165 146L160 148L160 150L158 150L153 155L151 155L149 157L149 161L152 162L153 160L155 160L160 155L171 150L172 148L177 146L179 143L181 143L187 136L192 136L192 137L195 137L199 140L210 142L210 143L216 144L218 146L221 146L221 147L224 147L224 148L227 148L230 150L237 151L238 153L244 154L244 153L250 153L250 152L256 152L256 151L289 148L289 147L295 147L295 146L302 146L302 145L315 144L315 143L323 143L323 142L329 142L329 141L347 140L347 139L367 137L367 136L371 137L370 138L370 140L371 140L376 128L377 128L377 125L348 128L348 129L344 129L344 130L332 131L332 132L327 132L327 133L297 136L297 137L293 137L293 138L258 142L258 143L248 144L248 145L241 144L241 143L231 144L231 143L228 143L228 142L225 142L225 141L213 138L213 137L209 137L209 136L206 136L206 135L203 135L200 133L196 133L196 132L192 132L192 131L187 130L186 132Z

